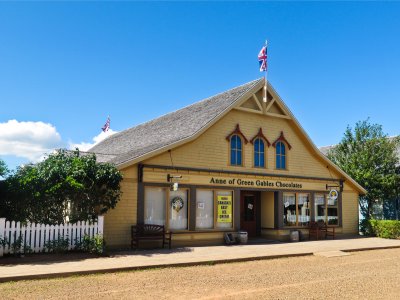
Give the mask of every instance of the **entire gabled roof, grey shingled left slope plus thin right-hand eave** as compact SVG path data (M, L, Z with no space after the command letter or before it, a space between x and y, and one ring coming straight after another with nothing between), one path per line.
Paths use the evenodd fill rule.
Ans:
M89 152L94 152L99 161L114 163L119 168L138 163L194 140L235 106L242 104L250 96L254 96L254 93L264 86L264 83L264 78L254 80L157 119L126 129L95 145ZM343 178L346 178L361 194L366 194L367 191L361 185L331 162L315 146L270 83L268 83L268 93L275 95L273 101L276 101L286 114L285 117L290 119L294 126L298 128L315 154L327 166L332 167ZM276 116L276 114L268 112L266 114Z

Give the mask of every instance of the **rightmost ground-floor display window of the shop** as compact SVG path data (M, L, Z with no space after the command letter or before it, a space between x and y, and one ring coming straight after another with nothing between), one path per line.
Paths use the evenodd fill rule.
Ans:
M339 225L338 200L331 199L327 194L315 194L315 221L324 221L328 225Z

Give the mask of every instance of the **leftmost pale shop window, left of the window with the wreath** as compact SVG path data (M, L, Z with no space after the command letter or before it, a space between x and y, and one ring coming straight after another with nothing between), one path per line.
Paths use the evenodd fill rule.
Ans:
M146 187L144 194L144 223L165 225L166 189Z

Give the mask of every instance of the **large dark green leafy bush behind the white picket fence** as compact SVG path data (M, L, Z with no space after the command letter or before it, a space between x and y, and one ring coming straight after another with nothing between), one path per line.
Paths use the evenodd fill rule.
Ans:
M60 150L7 177L0 216L47 224L94 219L116 206L121 180L113 165L97 163L94 154Z

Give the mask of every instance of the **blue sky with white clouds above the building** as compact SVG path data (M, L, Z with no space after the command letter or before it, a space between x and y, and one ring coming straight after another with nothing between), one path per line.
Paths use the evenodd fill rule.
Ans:
M400 134L400 3L0 3L0 157L88 146L261 77L317 146L370 118ZM15 120L15 121L10 121Z

